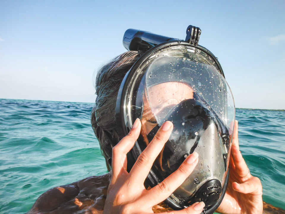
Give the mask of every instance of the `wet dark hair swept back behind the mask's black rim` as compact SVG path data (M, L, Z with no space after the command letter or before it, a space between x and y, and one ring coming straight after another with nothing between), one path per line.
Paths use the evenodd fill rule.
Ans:
M125 74L139 59L138 51L127 51L99 68L95 80L96 101L91 113L91 125L105 157L108 171L111 169L111 139L117 136L115 106L121 82Z

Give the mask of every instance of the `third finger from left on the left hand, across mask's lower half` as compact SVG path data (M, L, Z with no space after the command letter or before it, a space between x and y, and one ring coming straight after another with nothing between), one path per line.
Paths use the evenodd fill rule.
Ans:
M152 204L162 202L185 181L189 174L194 170L197 163L198 153L194 152L184 160L175 172L164 179L160 184L148 190L143 199L145 201L150 201Z

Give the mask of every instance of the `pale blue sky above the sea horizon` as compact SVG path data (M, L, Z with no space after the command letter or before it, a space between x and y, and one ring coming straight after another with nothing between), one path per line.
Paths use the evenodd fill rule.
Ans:
M219 58L238 108L285 109L285 1L0 0L0 98L95 101L98 67L128 28L185 39Z

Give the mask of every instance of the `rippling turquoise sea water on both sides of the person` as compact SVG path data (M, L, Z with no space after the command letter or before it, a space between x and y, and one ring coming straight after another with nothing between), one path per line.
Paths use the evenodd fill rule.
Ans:
M0 99L0 213L25 213L48 189L107 172L91 103ZM285 112L237 109L240 150L263 200L285 209Z

